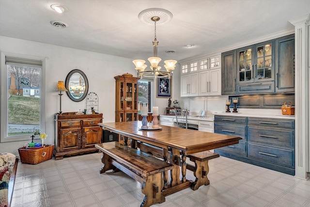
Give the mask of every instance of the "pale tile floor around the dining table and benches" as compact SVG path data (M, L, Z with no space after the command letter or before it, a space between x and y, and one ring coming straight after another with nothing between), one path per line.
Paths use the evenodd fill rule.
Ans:
M122 172L99 174L101 154L18 163L11 207L140 207L140 183ZM211 184L187 188L154 207L310 207L310 180L220 157ZM187 179L193 179L187 172Z

